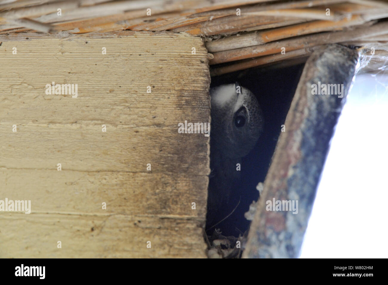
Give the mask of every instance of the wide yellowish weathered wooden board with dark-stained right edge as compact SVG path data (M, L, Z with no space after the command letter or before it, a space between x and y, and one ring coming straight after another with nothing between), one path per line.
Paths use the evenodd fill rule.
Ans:
M0 200L31 200L31 214L0 211L0 257L206 257L209 137L178 133L210 122L202 41L0 42ZM47 94L52 81L77 84L78 97Z

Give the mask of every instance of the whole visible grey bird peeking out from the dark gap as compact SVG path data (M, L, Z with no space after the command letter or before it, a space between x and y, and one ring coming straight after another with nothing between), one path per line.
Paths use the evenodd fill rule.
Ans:
M236 91L240 90L241 93ZM208 221L239 182L236 164L255 146L262 130L263 116L255 95L238 83L210 89L211 178L208 197Z

